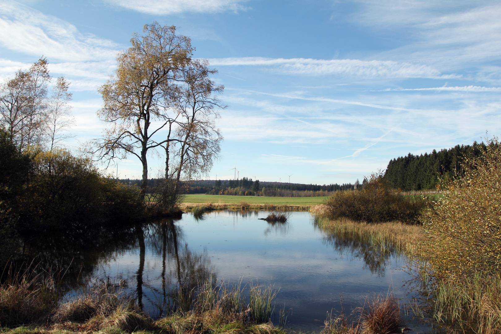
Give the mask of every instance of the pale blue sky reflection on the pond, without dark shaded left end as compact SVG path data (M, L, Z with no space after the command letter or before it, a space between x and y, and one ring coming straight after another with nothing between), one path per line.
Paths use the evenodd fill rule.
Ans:
M285 224L258 219L267 213L219 211L206 214L202 220L184 214L174 222L179 271L172 235L164 233L167 238L163 238L158 225L145 227L145 310L151 310L152 303L161 296L162 272L166 288L179 280L193 281L210 272L226 282L242 277L244 283L251 279L271 282L280 289L277 303L292 308L288 323L303 330L319 331L327 311L341 310L341 293L347 313L360 306L366 295L393 290L397 297L406 296L402 284L411 277L401 270L405 264L403 256L391 255L379 271L372 273L363 256L349 247L343 249L316 229L308 212L292 213ZM131 250L102 258L95 273L127 279L130 292L135 292L139 265L140 250L136 244Z

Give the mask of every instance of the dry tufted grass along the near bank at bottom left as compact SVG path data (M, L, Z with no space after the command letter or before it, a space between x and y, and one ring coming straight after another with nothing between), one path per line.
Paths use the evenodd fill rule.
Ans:
M48 290L38 276L16 278L0 286L0 333L285 334L271 322L277 294L271 286L249 283L247 296L241 281L214 286L207 280L171 291L171 311L154 320L120 284L94 284L61 303L53 280Z

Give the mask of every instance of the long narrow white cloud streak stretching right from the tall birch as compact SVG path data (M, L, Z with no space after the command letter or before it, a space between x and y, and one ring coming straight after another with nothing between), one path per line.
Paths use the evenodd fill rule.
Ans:
M426 65L406 62L358 60L358 59L305 59L305 58L216 58L209 59L213 66L262 66L271 67L290 75L341 75L361 78L453 78L456 75L442 75Z

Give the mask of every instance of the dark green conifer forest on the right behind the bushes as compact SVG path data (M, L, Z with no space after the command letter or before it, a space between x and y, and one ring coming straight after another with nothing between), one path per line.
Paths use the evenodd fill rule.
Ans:
M464 174L465 160L478 157L486 150L485 144L456 145L450 149L433 150L430 154L399 157L390 160L383 179L393 189L434 189L441 179L451 179Z

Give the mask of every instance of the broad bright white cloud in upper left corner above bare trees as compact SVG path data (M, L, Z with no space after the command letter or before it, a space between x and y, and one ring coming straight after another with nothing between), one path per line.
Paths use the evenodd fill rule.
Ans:
M54 76L64 75L72 91L95 91L115 67L119 45L81 34L70 23L12 0L0 2L0 45L34 58L45 56ZM0 79L31 64L0 59Z

